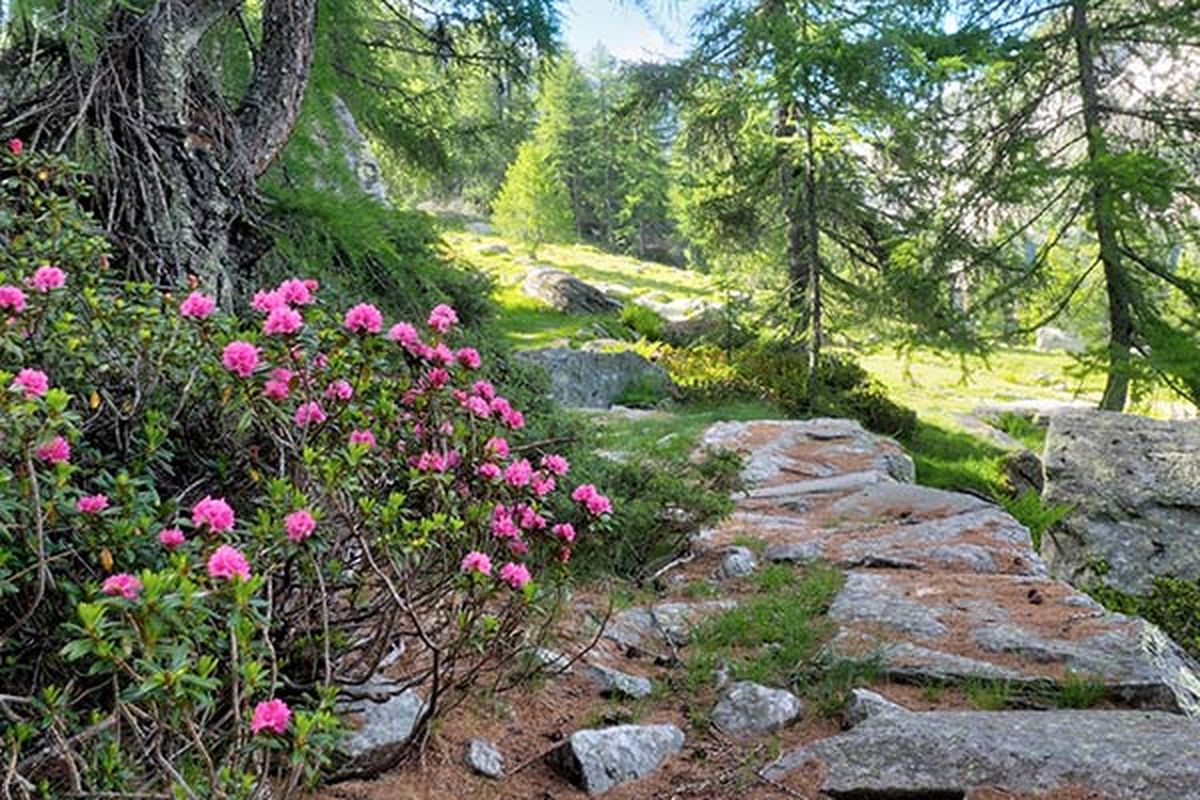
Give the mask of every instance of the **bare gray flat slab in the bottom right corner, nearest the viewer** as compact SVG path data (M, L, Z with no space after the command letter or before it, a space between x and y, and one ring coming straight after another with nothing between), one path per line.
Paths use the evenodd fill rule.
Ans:
M962 798L1085 788L1106 800L1200 799L1200 723L1150 711L869 715L763 769L821 764L830 798Z

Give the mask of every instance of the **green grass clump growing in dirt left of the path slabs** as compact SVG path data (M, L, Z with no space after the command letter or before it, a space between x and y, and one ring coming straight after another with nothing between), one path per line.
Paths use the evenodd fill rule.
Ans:
M775 565L755 581L757 594L694 632L685 676L692 691L712 681L720 662L734 680L768 686L796 685L811 674L833 630L826 612L841 587L841 575L823 566L800 575Z

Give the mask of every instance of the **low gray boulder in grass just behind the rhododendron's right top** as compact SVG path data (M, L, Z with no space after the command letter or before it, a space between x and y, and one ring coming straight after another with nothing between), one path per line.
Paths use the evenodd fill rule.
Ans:
M629 350L584 353L547 348L527 350L518 357L546 369L550 393L563 405L608 408L631 385L647 385L664 396L674 390L666 369Z

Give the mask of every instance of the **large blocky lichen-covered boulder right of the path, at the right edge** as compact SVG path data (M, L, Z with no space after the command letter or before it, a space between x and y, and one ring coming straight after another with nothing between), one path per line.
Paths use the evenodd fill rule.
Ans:
M1132 594L1200 578L1200 421L1058 414L1045 477L1045 501L1074 507L1043 540L1058 575Z

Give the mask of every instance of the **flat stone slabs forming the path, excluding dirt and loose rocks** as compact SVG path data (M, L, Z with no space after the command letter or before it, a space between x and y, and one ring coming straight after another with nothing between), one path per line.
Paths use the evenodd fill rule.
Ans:
M912 485L901 450L850 421L720 423L702 444L745 453L750 487L697 547L761 540L769 560L841 566L834 655L878 656L905 682L1086 682L1108 706L870 715L785 753L766 777L816 762L834 798L1200 798L1195 662L1154 626L1055 581L1002 509Z

